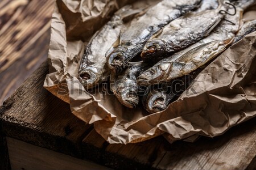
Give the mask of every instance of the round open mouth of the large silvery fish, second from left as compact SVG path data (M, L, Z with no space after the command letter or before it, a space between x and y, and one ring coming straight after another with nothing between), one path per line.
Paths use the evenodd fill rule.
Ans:
M110 70L114 71L115 73L118 73L124 67L125 57L121 52L112 53L107 59L107 64Z

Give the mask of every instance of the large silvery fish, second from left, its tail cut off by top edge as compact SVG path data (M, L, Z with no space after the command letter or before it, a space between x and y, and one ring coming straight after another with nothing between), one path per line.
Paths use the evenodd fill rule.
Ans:
M146 41L164 25L198 7L201 0L163 0L147 9L146 13L131 22L110 48L108 66L114 72L121 72L127 62L141 53Z

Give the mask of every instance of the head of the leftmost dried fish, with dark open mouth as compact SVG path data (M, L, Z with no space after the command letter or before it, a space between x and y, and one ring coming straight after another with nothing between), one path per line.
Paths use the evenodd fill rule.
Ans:
M79 73L79 80L84 86L85 90L96 87L101 80L101 71L96 67L86 67Z

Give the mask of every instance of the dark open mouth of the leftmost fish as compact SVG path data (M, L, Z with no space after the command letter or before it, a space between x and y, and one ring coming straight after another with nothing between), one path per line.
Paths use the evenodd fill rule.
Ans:
M84 70L81 71L81 73L79 73L79 80L82 84L82 86L84 86L85 90L88 90L90 88L93 88L94 86L97 85L97 74L93 73L90 70Z

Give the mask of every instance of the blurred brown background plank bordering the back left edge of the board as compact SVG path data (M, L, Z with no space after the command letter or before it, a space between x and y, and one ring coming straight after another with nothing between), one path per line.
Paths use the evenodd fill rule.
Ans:
M26 52L20 54L23 55L22 58L17 59L0 73L0 104L47 59L49 33L50 30L44 33Z

